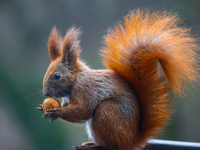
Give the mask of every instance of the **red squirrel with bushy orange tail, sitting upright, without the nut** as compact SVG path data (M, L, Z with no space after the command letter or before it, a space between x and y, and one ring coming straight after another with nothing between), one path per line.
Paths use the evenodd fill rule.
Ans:
M45 117L86 123L93 142L82 147L140 149L168 124L170 91L184 95L198 76L197 39L180 23L168 12L131 11L104 37L105 70L80 60L79 28L63 38L54 27L43 93L63 103Z

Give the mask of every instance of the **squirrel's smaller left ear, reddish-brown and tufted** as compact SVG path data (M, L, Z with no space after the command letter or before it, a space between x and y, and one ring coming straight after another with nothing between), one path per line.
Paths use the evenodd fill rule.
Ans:
M61 55L61 50L60 50L61 43L62 43L62 38L59 35L56 27L53 27L53 29L51 30L51 33L49 35L49 40L47 43L51 61L54 61L56 58L58 58Z

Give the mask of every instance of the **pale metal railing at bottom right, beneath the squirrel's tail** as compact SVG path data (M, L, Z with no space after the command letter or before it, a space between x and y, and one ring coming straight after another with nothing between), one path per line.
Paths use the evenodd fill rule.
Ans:
M168 140L149 140L143 150L200 150L200 143Z

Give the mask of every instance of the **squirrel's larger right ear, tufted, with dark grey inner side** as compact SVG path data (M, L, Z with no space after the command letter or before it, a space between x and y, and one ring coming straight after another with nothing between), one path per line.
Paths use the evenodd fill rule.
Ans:
M80 29L72 27L65 34L62 44L61 58L62 62L69 66L74 64L80 55L81 48L78 39L80 33Z

